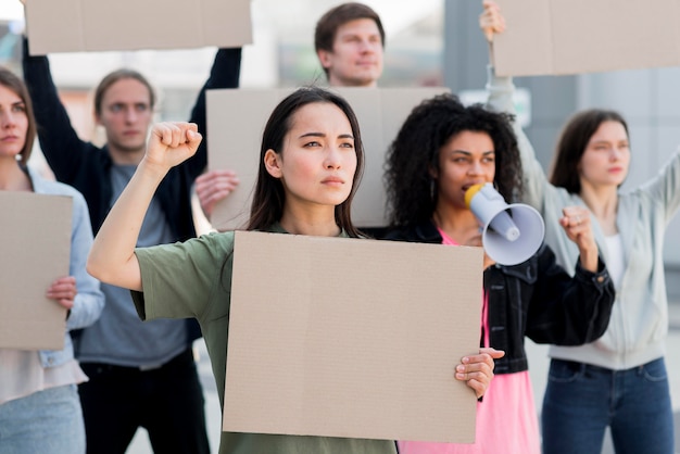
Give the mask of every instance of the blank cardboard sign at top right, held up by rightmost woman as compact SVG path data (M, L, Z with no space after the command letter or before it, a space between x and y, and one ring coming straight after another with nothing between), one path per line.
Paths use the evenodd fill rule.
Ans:
M499 75L578 74L680 64L678 0L498 0Z

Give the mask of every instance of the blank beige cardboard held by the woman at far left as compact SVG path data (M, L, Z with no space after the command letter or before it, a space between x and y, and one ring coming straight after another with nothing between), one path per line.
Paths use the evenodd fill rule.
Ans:
M61 350L66 308L45 293L68 276L72 199L0 191L0 348Z

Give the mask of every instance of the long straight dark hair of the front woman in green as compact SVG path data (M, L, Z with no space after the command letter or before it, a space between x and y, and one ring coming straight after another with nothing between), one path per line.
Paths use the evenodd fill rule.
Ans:
M264 155L272 149L280 153L284 149L284 139L291 128L292 117L302 106L312 103L331 103L337 105L347 115L354 136L354 151L356 152L356 172L352 180L352 190L344 202L336 206L336 223L349 236L358 237L360 232L352 224L351 209L352 199L358 188L364 172L364 147L362 144L358 122L350 104L340 96L319 87L299 88L286 97L272 112L262 136L260 149L260 169L257 182L250 210L248 230L257 230L269 227L280 220L284 215L286 193L284 185L278 178L274 178L264 165Z

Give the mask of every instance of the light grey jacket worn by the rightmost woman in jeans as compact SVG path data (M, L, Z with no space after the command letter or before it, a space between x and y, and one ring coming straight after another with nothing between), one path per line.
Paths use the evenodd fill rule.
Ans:
M489 105L514 112L512 78L495 77L489 71ZM552 186L537 161L533 148L518 125L515 134L525 174L524 202L545 219L545 242L555 251L565 269L574 269L579 253L558 219L568 205L585 206L578 194ZM664 235L680 206L680 150L648 181L619 192L616 224L621 236L625 272L609 326L602 338L581 346L551 345L550 356L593 364L609 369L628 369L659 358L668 333L668 302L664 278ZM605 237L591 215L595 241L607 262Z

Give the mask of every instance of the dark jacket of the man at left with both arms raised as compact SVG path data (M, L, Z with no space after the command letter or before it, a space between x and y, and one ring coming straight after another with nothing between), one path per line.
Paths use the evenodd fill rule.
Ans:
M92 231L97 234L113 204L113 160L106 146L99 148L77 136L59 99L48 58L29 55L28 45L24 40L24 79L33 100L42 153L56 179L83 193L89 207ZM191 188L196 177L207 165L205 90L238 87L240 64L240 48L217 51L210 76L200 90L189 119L198 124L204 140L191 159L169 171L154 194L174 241L196 237ZM110 304L108 311L118 310L116 305ZM187 320L186 324L186 342L190 345L201 332L196 321Z

